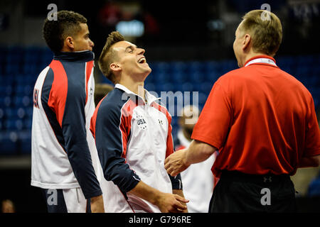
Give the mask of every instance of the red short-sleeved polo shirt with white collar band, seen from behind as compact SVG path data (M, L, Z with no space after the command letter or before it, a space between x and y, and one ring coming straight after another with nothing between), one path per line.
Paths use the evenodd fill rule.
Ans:
M213 85L194 140L218 148L213 174L294 175L302 156L320 155L314 100L272 57L252 57Z

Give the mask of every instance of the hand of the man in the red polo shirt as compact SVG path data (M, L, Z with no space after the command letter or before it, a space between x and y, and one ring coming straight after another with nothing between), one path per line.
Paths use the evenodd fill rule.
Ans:
M172 177L176 177L176 175L189 167L190 164L186 162L186 152L187 150L177 150L164 161L166 172Z

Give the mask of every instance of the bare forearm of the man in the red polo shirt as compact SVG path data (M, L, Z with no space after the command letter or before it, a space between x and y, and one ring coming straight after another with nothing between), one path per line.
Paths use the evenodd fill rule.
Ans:
M203 162L208 159L216 148L207 143L202 143L197 140L192 140L187 152L186 152L186 164L191 165L198 162Z

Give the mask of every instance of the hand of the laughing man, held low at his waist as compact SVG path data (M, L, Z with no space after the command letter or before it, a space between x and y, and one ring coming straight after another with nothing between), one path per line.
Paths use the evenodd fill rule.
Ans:
M187 203L188 199L184 199L177 194L161 193L154 204L159 207L162 213L183 213L188 211L187 206L181 202Z

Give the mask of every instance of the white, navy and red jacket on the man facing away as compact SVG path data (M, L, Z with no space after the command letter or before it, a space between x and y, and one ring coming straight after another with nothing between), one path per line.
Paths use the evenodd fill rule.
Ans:
M59 52L38 76L33 92L33 186L81 187L86 199L102 194L94 169L100 163L89 131L95 111L93 59L89 50Z

